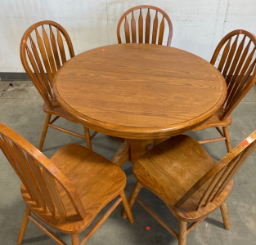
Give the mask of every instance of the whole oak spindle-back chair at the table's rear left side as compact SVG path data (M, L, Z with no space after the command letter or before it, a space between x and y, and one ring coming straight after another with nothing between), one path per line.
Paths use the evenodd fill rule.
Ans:
M47 26L50 33L50 39L47 35ZM42 29L43 38L40 36L39 27ZM74 57L74 48L69 34L61 25L53 21L46 20L31 25L29 29L25 31L20 42L20 60L22 65L45 102L43 104L43 111L47 114L47 118L43 126L43 133L38 149L43 149L43 142L47 135L48 127L85 139L88 149L92 149L91 140L96 136L97 131L90 136L89 129L84 127L85 136L83 136L74 131L69 131L65 128L52 125L52 123L60 117L65 118L70 122L78 123L70 116L70 114L62 109L52 93L54 76L67 61L63 38L70 51L70 58ZM55 115L56 117L51 121L52 115Z

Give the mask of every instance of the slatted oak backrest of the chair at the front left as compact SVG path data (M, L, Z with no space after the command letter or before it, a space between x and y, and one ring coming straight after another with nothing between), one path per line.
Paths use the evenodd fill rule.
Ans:
M0 148L37 207L66 220L66 209L57 187L61 185L74 210L81 219L85 218L83 203L70 180L34 145L1 122Z

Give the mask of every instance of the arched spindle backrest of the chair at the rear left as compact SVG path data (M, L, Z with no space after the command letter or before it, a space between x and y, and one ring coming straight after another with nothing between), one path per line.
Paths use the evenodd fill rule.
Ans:
M67 61L62 37L70 51L70 58L74 57L74 48L69 34L61 25L50 20L31 25L20 42L22 65L49 108L53 107L53 78L61 65Z

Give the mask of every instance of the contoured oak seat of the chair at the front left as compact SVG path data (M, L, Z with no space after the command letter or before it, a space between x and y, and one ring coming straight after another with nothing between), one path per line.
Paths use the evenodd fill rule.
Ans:
M42 208L36 207L23 185L21 194L38 219L66 234L79 234L86 229L97 213L117 197L126 185L126 176L120 167L82 145L65 145L52 156L51 161L74 185L86 210L86 218L79 218L65 190L58 183L67 213L66 221L58 215L53 218L50 212L45 213Z

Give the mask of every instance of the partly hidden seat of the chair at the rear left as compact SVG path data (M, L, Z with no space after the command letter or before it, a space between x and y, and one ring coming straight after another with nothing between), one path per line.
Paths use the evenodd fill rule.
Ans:
M53 108L49 108L49 106L46 103L43 103L43 111L47 114L53 114L56 116L59 116L61 118L65 118L66 120L70 121L70 122L76 122L78 123L76 120L74 120L74 118L72 118L70 116L69 113L67 113L65 111L65 109L63 109L61 107L61 105L58 103L58 101L56 100L56 98L51 99Z

